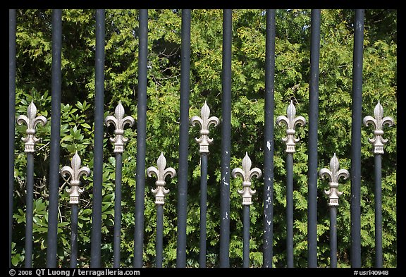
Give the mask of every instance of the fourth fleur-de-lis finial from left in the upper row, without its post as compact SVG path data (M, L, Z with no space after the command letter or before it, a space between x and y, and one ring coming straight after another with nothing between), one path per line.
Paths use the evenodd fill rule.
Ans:
M286 129L286 137L283 137L282 140L286 144L286 152L287 153L293 153L295 152L295 144L296 142L299 142L299 139L295 137L295 127L297 124L300 125L305 125L306 120L303 116L296 116L296 108L295 105L293 105L293 101L290 101L290 104L288 106L288 109L286 109L287 116L278 116L276 118L276 123L279 125L282 125L282 123L285 123L287 126Z

